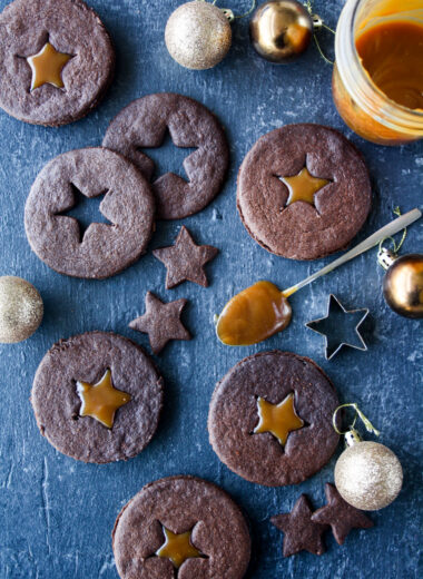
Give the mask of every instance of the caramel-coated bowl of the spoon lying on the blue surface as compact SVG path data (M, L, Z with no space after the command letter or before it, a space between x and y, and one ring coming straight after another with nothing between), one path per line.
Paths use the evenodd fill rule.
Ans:
M257 282L234 296L217 320L216 332L227 345L256 344L291 322L288 301L276 285Z

